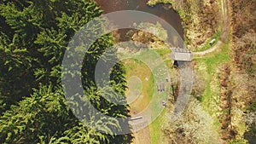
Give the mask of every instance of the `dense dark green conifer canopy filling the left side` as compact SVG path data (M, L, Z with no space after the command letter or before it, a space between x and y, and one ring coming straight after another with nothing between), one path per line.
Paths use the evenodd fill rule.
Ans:
M109 131L108 124L104 124L103 133L82 123L70 110L61 87L61 62L69 41L82 26L101 14L102 10L90 0L0 2L0 143L131 141L131 135ZM119 106L103 98L104 94L116 96L109 89L124 95L123 66L117 63L112 67L109 87L98 89L94 78L97 60L112 45L113 37L104 34L90 46L81 71L87 93L73 97L79 101L89 98L99 112L113 118L126 117L128 105ZM125 96L116 99L125 101ZM85 111L81 107L79 112ZM119 121L110 125L122 129Z

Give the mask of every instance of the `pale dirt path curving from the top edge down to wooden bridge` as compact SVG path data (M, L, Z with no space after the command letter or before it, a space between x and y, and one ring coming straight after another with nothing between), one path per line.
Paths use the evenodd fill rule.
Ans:
M193 55L207 55L208 53L212 53L216 49L218 49L224 42L229 39L229 31L230 31L230 19L229 19L229 2L228 0L221 0L221 8L222 8L222 20L223 20L223 27L221 36L218 42L212 46L212 48L200 51L200 52L193 52Z

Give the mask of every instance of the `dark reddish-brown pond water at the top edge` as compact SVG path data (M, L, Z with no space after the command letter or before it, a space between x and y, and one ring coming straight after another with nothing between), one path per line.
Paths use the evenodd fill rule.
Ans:
M139 10L154 14L162 20L166 20L183 38L183 28L181 18L173 9L169 9L169 4L157 4L154 7L147 5L148 0L96 0L96 3L103 9L104 14L119 10ZM156 22L156 21L155 21ZM161 24L161 21L158 21ZM165 28L165 27L164 27ZM168 36L171 34L168 33Z

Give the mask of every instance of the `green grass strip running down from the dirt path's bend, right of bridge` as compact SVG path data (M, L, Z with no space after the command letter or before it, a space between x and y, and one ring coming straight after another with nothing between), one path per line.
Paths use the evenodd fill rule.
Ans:
M219 129L218 122L218 104L220 102L220 84L218 81L218 67L230 61L229 43L225 43L222 49L205 55L204 57L195 57L195 71L201 73L206 80L205 91L201 96L201 104L204 109L212 115L215 129Z

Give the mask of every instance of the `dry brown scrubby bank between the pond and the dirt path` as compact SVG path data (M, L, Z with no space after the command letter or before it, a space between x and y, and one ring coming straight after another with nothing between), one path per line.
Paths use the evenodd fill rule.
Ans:
M183 20L184 40L188 49L201 47L221 31L221 3L218 1L149 0L148 5L171 4Z

